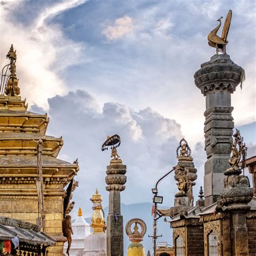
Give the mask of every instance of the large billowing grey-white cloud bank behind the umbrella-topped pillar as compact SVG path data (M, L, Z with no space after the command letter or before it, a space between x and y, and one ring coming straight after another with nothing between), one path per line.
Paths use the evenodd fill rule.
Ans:
M35 105L31 111L45 112ZM64 139L59 158L72 162L78 157L80 171L77 180L80 186L74 196L76 207L84 205L88 214L91 214L89 198L96 187L107 203L105 169L110 152L100 151L107 135L117 133L122 139L118 152L127 165L127 187L122 193L125 204L151 201L150 188L176 165L176 149L183 137L181 126L150 107L134 111L127 105L107 102L99 108L93 96L79 90L50 98L49 116L47 134L63 136ZM174 184L173 178L169 182ZM85 195L85 188L91 192ZM177 187L172 186L170 190L173 193L166 192L166 202L172 201Z

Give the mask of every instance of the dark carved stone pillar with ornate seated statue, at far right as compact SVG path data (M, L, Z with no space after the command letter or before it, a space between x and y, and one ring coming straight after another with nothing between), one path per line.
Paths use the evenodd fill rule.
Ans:
M246 212L251 208L247 204L252 200L253 190L248 177L240 175L242 171L238 166L241 157L242 166L245 165L246 146L238 130L233 136L232 156L228 159L231 167L224 172L224 190L218 203L222 210L230 212L231 255L249 255Z

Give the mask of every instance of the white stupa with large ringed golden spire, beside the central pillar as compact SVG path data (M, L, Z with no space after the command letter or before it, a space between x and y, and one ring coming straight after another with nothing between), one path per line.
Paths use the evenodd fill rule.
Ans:
M84 239L83 256L106 256L106 223L102 211L102 196L98 194L97 189L91 201L93 203L91 218L93 232Z

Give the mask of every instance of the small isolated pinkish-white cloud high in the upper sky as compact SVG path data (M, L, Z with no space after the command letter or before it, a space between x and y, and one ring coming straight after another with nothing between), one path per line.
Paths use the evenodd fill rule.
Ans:
M134 30L133 20L129 16L124 16L122 18L116 19L113 26L107 26L103 30L103 35L105 35L109 40L115 40L121 38Z

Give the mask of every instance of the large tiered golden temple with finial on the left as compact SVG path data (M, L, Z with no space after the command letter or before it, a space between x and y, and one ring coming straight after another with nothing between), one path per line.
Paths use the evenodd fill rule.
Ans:
M62 137L46 136L47 114L28 111L25 100L18 96L13 46L6 57L10 60L10 76L1 84L0 95L0 216L34 224L38 224L38 217L43 218L43 230L57 240L56 246L49 247L48 255L62 256L66 241L62 220L74 204L69 204L69 200L64 204L64 198L71 198L77 186L73 177L79 167L77 161L71 164L57 158ZM67 196L64 187L70 181ZM41 199L38 191L42 192Z

